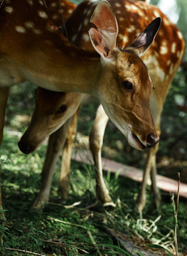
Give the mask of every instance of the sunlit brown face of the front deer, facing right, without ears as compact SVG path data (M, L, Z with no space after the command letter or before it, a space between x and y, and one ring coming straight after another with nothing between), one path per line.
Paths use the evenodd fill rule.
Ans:
M116 58L115 67L113 63L104 64L110 68L111 75L103 76L100 83L108 79L109 86L105 90L100 86L97 97L109 119L127 137L131 146L136 149L155 146L159 135L149 108L153 87L146 65L137 55L125 50L116 53ZM105 102L100 95L105 95ZM119 102L124 104L119 105Z

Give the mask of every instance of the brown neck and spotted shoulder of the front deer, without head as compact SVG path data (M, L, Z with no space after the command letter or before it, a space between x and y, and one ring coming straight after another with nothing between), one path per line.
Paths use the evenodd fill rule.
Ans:
M50 21L42 1L26 1L18 15L21 3L5 1L0 9L0 67L9 70L12 84L30 80L48 90L94 94L100 55L73 46Z

